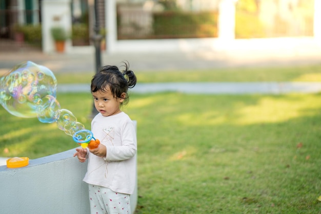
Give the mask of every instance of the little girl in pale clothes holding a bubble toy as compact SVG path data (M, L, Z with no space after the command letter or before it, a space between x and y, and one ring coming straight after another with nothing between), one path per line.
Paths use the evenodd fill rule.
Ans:
M136 129L121 110L128 103L128 88L136 76L125 63L125 70L104 66L91 80L94 105L99 112L91 131L101 144L96 149L76 148L80 162L88 158L84 181L89 184L91 213L131 213L129 196L134 192L137 150Z

